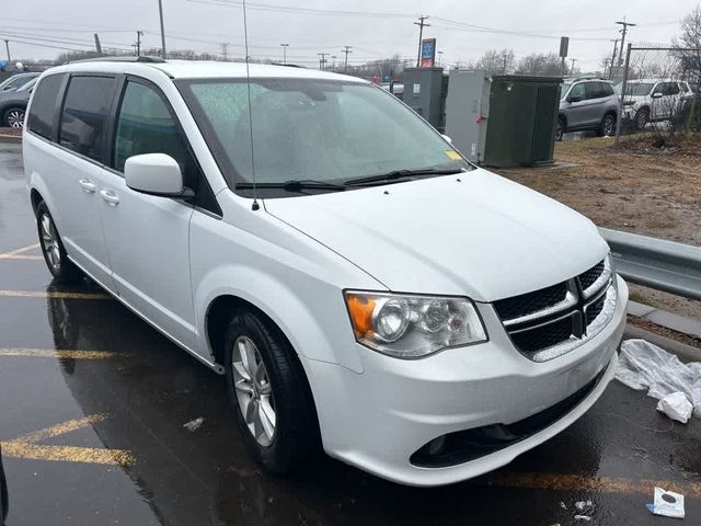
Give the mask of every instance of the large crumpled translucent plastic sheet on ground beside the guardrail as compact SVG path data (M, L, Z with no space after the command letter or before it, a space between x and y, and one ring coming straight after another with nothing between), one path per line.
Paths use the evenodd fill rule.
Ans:
M693 404L693 414L701 416L701 363L682 364L645 340L627 340L616 378L632 389L647 389L647 396L656 399L681 391Z

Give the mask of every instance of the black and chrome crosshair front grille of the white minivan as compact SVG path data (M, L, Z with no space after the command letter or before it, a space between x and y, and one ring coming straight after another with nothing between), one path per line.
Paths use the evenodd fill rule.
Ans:
M566 282L493 305L516 348L535 362L544 362L572 351L590 338L590 329L598 331L606 324L593 327L607 300L616 299L614 291L609 294L611 283L611 273L600 261Z

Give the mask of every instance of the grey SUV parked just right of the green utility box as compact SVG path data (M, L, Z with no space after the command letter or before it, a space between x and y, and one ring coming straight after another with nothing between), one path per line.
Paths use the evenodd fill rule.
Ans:
M605 79L565 79L560 88L560 111L555 139L567 132L595 130L601 136L616 134L620 108L613 85Z

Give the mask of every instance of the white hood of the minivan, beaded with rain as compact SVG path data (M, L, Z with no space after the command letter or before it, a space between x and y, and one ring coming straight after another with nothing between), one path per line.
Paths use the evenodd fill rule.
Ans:
M482 169L264 204L394 291L493 301L568 279L608 252L584 216Z

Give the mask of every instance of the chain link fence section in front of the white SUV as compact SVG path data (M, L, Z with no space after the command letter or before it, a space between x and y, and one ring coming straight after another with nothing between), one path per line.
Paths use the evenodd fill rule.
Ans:
M629 45L617 142L666 147L701 133L701 49Z

